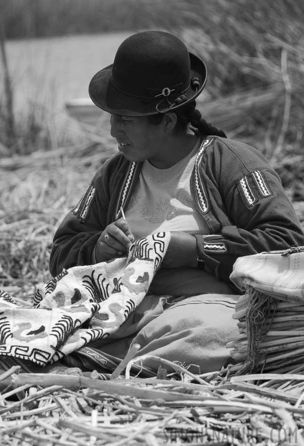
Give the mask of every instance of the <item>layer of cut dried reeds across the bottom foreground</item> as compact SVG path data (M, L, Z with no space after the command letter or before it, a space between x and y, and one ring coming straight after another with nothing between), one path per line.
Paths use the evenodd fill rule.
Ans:
M242 384L236 377L225 383L219 376L207 389L187 382L186 376L103 382L13 374L15 390L0 396L1 444L241 445L268 440L304 445L304 375L249 375L240 378ZM276 390L246 383L259 378L290 382L292 394L290 385ZM75 385L79 390L70 390Z

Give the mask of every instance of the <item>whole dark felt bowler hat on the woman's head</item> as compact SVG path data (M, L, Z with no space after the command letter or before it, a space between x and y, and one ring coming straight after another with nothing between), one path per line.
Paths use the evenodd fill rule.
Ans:
M89 94L113 114L145 116L174 111L193 101L207 80L204 62L182 41L163 31L145 31L124 40L114 63L98 71Z

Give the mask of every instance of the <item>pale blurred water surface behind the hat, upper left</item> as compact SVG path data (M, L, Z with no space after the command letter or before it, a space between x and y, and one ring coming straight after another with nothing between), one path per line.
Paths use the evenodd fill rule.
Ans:
M62 110L75 98L89 98L88 85L101 68L113 63L122 41L132 32L64 36L6 42L16 111L29 103ZM2 70L0 71L1 86Z

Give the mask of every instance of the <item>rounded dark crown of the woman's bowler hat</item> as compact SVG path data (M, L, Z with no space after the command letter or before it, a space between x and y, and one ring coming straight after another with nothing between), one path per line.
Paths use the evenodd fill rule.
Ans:
M189 87L190 58L183 42L162 31L134 34L122 42L111 81L123 93L152 98L164 89L172 94Z

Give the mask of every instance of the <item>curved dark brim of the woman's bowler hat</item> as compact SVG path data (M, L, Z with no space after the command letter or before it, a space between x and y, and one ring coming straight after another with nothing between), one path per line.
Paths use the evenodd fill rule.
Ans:
M199 81L199 87L194 88L192 84L186 92L183 94L186 97L186 101L182 104L176 105L170 108L170 111L174 111L179 107L188 104L200 95L207 81L207 69L204 62L197 56L189 53L190 56L190 77L196 77ZM92 101L97 107L102 110L108 111L113 114L121 114L124 116L146 116L149 114L157 114L159 111L156 109L156 105L160 102L157 100L151 100L148 103L144 102L141 98L130 96L122 93L120 90L114 87L110 81L113 64L103 68L96 73L89 84L89 95ZM170 99L170 97L169 97Z

